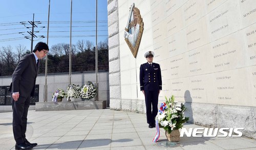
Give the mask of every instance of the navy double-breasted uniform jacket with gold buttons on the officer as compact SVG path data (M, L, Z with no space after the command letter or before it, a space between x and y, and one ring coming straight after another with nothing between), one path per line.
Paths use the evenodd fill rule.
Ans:
M158 63L148 62L140 66L140 91L158 91L162 90L161 69Z

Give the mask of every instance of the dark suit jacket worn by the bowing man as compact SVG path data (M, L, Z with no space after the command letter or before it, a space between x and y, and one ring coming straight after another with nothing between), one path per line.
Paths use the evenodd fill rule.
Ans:
M22 57L12 74L11 92L19 92L20 96L25 97L33 96L38 66L33 53Z

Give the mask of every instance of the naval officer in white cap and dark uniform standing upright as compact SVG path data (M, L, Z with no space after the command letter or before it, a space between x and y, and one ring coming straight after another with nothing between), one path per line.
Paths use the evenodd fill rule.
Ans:
M146 120L148 127L156 127L155 117L158 112L158 95L162 90L161 69L153 62L154 52L148 51L144 57L147 62L140 66L140 91L145 96Z

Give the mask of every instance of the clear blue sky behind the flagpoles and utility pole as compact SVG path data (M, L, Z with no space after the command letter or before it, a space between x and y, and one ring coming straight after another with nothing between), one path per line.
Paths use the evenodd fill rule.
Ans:
M107 0L98 0L98 42L108 37ZM3 0L0 5L0 48L19 44L31 48L33 20L33 48L38 41L47 42L49 0ZM49 48L58 43L70 43L71 0L50 1ZM72 0L72 44L90 40L95 44L96 0ZM40 23L40 24L38 24ZM28 28L27 28L28 27ZM45 28L44 28L45 27ZM26 37L29 39L26 39ZM44 36L45 38L41 38Z

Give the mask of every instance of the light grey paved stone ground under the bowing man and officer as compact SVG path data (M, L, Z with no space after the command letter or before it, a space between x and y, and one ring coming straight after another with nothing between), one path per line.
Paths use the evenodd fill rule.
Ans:
M29 111L27 139L33 149L256 149L256 140L246 137L181 137L176 147L160 147L152 142L155 128L148 128L146 115L104 110ZM185 124L184 127L203 127ZM15 149L12 113L0 113L0 149Z

